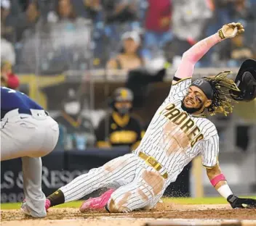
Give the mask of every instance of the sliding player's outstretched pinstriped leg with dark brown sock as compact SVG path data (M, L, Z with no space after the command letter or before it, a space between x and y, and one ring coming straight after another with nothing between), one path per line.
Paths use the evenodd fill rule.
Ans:
M115 183L131 183L137 175L138 161L135 154L126 154L111 160L103 167L91 169L87 174L76 177L71 183L48 196L46 207L78 200L99 188L106 188Z

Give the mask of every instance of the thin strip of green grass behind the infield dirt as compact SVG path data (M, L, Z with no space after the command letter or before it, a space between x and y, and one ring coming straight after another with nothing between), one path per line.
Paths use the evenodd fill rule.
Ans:
M248 198L248 197L244 197ZM249 198L256 198L249 197ZM175 204L227 204L225 198L222 197L206 197L206 198L164 198L164 202L172 202ZM82 201L71 201L66 204L61 204L53 208L69 207L69 208L79 208ZM1 204L1 209L20 209L20 203L14 204Z

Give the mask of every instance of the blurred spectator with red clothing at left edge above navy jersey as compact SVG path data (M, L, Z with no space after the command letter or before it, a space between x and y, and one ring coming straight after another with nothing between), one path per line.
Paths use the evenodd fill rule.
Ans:
M12 72L12 64L9 62L1 62L1 85L15 90L19 88L20 80Z

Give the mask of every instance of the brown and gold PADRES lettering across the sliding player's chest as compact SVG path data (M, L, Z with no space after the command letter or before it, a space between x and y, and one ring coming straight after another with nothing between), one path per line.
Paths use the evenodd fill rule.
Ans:
M200 133L201 130L199 127L195 125L195 122L193 122L190 117L188 117L188 113L181 112L179 109L175 108L175 104L169 104L160 113L183 130L185 135L187 135L188 140L191 142L191 147L193 147L197 141L204 138L204 135Z

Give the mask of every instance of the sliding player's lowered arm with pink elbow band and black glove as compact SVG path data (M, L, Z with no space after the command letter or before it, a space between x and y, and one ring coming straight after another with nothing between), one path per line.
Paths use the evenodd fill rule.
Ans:
M217 131L212 130L212 135L202 141L202 164L207 169L207 176L212 186L225 198L232 208L256 208L256 200L252 198L238 198L229 188L225 175L220 169L218 162L219 137Z

